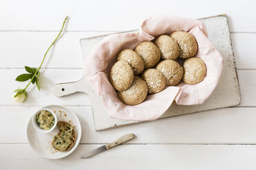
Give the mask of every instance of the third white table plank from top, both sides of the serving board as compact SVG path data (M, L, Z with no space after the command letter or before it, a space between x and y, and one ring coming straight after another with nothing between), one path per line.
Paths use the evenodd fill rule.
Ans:
M83 93L76 93L65 97L55 97L52 94L54 84L60 82L72 82L83 77L83 70L81 69L46 69L42 72L41 86L42 90L39 92L36 88L29 87L28 102L25 104L17 104L12 100L11 94L13 90L18 87L23 88L27 82L14 81L17 75L25 73L20 69L0 69L0 80L4 81L0 88L0 106L33 106L33 105L90 105L89 97ZM238 80L241 90L241 105L240 106L256 106L256 71L237 71ZM32 89L30 89L32 88Z

